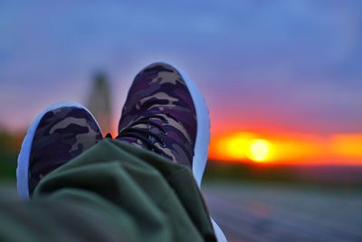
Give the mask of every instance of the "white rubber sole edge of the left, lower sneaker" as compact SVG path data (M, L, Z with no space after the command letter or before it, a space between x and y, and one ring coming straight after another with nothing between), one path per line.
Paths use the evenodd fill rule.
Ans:
M22 149L20 150L18 159L17 159L17 168L16 168L16 187L17 192L21 198L29 198L29 160L30 152L32 151L33 137L35 131L38 128L39 122L42 120L45 113L48 111L53 111L62 107L74 107L84 109L88 111L81 103L78 102L57 102L52 104L52 106L43 110L30 125L28 131L26 132L25 138L23 140ZM90 113L90 111L88 111ZM91 117L93 115L90 113ZM94 119L94 117L93 117ZM96 121L96 119L94 119ZM96 121L98 127L100 125ZM101 131L101 130L100 130Z

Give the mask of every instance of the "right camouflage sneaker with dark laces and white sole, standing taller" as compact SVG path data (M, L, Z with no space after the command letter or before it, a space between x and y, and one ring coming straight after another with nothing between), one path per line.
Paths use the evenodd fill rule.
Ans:
M200 185L209 131L208 111L195 83L167 63L153 63L129 89L117 139L188 166Z

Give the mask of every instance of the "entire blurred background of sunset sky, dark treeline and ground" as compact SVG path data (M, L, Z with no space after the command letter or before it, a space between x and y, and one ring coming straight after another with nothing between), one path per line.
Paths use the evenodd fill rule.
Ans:
M229 241L362 241L362 2L0 0L0 179L27 127L81 102L104 133L147 64L205 94L203 190Z

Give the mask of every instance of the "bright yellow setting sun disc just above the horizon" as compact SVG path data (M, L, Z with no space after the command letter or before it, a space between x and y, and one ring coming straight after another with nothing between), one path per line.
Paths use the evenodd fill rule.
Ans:
M264 162L268 160L270 154L271 144L268 140L256 139L251 140L249 150L246 152L246 156L256 162Z

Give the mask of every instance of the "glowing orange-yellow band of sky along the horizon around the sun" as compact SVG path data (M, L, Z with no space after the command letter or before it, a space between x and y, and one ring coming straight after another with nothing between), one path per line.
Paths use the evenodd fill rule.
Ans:
M234 132L213 136L209 158L278 164L362 165L362 134Z

